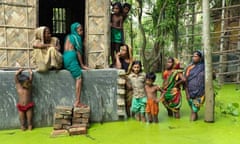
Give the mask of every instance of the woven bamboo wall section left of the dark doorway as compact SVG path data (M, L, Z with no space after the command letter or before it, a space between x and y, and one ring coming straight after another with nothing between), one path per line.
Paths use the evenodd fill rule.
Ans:
M32 64L31 42L36 28L36 1L0 1L0 67Z

